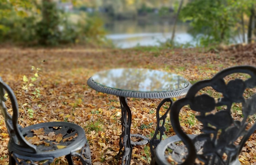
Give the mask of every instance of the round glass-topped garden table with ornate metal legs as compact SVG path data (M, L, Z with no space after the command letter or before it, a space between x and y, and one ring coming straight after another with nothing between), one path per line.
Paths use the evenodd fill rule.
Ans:
M90 77L87 84L102 93L117 95L121 105L122 134L119 139L120 150L116 158L122 157L122 164L129 165L131 162L132 149L135 145L150 143L150 151L161 141L165 132L165 119L170 108L160 117L159 111L165 102L172 103L172 97L185 95L191 84L182 76L142 68L116 68L101 71ZM127 105L127 97L164 99L156 109L157 126L154 136L149 139L140 134L131 134L132 112ZM162 125L160 126L160 121ZM160 138L157 134L160 132ZM131 137L142 139L132 141Z

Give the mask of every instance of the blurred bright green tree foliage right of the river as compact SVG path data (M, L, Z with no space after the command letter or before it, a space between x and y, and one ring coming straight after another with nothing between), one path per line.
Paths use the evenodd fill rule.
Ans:
M194 0L181 10L180 17L190 22L190 32L200 45L228 44L230 38L239 34L241 15L252 3L252 0Z

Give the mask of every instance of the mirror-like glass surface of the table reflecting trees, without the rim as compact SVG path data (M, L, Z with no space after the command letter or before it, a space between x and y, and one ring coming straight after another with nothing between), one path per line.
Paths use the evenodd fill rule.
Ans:
M103 86L132 91L171 91L187 86L183 77L157 70L119 68L95 74L93 80Z

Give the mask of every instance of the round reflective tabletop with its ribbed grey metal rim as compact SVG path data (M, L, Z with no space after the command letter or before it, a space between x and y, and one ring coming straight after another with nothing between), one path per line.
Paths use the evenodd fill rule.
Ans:
M88 85L104 93L119 96L126 94L124 97L162 98L157 95L171 95L175 92L176 96L186 94L191 84L182 76L168 72L143 68L116 68L96 73L88 80Z

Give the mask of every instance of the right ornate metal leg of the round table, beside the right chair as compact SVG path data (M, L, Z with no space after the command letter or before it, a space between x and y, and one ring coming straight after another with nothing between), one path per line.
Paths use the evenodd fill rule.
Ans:
M160 117L159 115L159 111L160 108L162 107L162 105L166 102L170 102L170 106L168 107L168 109L166 110L166 112L164 113L164 115L162 115ZM150 152L151 152L151 157L152 159L154 158L154 148L156 148L156 146L160 143L160 141L162 140L162 136L164 135L165 132L165 119L167 117L168 112L170 111L170 107L172 105L172 100L171 98L166 98L164 100L161 101L161 103L158 105L157 110L156 110L156 117L157 117L157 126L156 126L156 131L154 133L154 136L151 138L151 140L149 141L150 144ZM160 126L160 121L162 120L162 125ZM157 134L158 132L160 132L160 137L159 139L157 139Z

